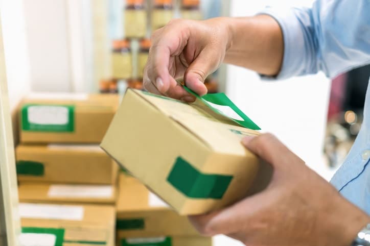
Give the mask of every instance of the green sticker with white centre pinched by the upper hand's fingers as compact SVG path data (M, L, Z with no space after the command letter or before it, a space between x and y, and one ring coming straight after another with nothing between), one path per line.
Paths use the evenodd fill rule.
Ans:
M257 126L255 122L253 122L248 116L246 116L243 111L241 111L224 93L210 93L199 96L188 87L183 86L183 88L190 94L197 97L197 99L199 99L215 113L221 114L233 120L239 126L251 130L261 130L261 128Z

